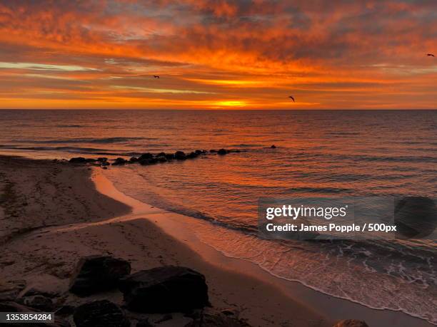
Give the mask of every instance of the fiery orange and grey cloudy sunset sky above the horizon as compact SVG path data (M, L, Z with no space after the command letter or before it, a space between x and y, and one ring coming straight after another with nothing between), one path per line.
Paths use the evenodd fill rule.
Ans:
M0 108L437 108L427 53L436 0L0 0Z

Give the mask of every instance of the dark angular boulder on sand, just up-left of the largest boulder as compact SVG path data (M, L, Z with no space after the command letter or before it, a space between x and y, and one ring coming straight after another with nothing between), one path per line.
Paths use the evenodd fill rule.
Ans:
M87 296L114 289L121 277L131 273L131 264L112 256L86 256L79 261L71 279L70 291Z

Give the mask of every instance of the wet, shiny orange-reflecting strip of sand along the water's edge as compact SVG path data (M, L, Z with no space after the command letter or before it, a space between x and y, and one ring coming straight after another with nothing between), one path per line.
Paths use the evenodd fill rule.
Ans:
M196 253L200 254L202 259L209 261L211 264L215 264L218 267L226 266L228 269L238 271L240 274L247 274L248 276L267 282L274 288L278 289L278 291L291 297L294 301L297 300L296 298L300 297L300 301L303 305L316 306L319 313L328 318L328 321L335 322L346 318L353 318L366 321L369 326L385 327L387 324L400 327L434 326L423 318L412 316L400 310L371 308L350 299L331 296L323 291L313 289L311 286L307 286L301 281L288 280L283 279L280 276L275 276L251 261L226 256L217 249L214 249L213 246L202 242L195 234L190 233L187 226L190 224L196 224L197 219L185 216L184 214L157 209L150 204L129 197L117 190L112 182L104 177L104 172L100 172L97 169L95 171L97 175L94 175L93 180L96 183L96 189L109 197L129 204L134 208L132 215L141 216L141 210L156 210L156 212L152 213L152 211L148 214L161 215L161 219L154 219L153 217L144 218L156 224L164 233L171 235L171 237L174 237L179 241L183 240L192 251L196 251ZM130 214L127 216L129 217ZM244 271L244 273L242 273L242 271ZM291 294L293 294L293 296L291 296Z

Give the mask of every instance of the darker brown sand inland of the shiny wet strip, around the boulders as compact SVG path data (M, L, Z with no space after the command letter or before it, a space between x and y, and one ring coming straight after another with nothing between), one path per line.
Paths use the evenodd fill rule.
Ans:
M64 302L76 305L84 299L66 291L77 261L110 254L129 260L133 271L166 264L201 271L214 308L238 311L252 326L277 326L278 321L282 326L331 326L274 286L207 263L148 219L117 219L131 207L97 192L88 167L14 157L1 157L0 165L6 190L0 216L3 281L24 279L28 288L62 294ZM163 214L149 212L159 219L156 213ZM116 292L94 298L121 303Z

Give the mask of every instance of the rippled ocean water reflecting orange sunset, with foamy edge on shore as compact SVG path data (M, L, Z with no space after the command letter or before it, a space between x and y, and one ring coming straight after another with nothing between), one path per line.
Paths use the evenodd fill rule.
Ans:
M435 110L0 110L0 153L129 157L221 147L242 152L105 174L131 197L199 219L194 232L228 256L437 324L435 241L272 241L256 234L259 197L435 198Z

